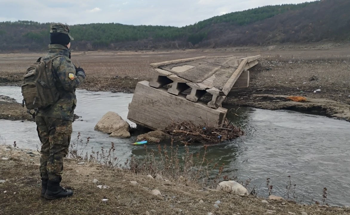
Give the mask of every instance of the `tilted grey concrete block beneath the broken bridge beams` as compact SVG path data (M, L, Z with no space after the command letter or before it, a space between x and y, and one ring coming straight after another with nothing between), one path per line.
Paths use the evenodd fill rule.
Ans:
M227 109L209 108L204 102L191 102L182 94L175 96L166 88L153 88L149 82L137 84L127 118L150 129L165 129L172 122L191 121L196 125L220 126Z

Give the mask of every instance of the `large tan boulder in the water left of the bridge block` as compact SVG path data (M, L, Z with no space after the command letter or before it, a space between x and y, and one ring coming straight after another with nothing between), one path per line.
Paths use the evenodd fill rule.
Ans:
M130 138L130 125L117 113L107 112L95 126L96 131L110 134L110 137Z

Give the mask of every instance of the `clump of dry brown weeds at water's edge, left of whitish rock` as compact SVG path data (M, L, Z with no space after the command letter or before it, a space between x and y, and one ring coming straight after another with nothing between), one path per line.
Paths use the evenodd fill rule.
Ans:
M203 154L200 152L193 154L190 153L188 145L185 144L183 146L185 153L181 155L179 154L179 146L174 146L172 140L169 148L167 145L163 147L158 145L158 151L148 151L145 145L147 155L144 158L133 156L125 162L124 168L134 174L149 174L154 177L161 175L170 181L200 187L214 188L220 179L228 179L228 176L222 176L224 164L219 166L212 159L208 160L206 158L207 146L204 146Z

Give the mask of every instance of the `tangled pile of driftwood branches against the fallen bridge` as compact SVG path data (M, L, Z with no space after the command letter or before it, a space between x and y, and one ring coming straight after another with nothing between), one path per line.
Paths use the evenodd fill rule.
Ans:
M227 120L221 127L196 126L191 122L173 123L164 132L168 133L174 141L204 145L214 145L244 135L241 129Z

